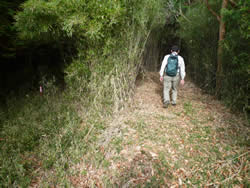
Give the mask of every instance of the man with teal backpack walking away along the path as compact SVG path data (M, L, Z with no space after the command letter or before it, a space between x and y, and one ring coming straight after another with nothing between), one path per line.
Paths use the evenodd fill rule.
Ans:
M177 88L179 82L184 85L185 63L184 59L179 56L180 49L178 46L171 48L171 54L164 57L160 70L160 81L163 81L163 107L167 108L170 104L170 89L172 88L172 102L176 105ZM181 80L181 81L180 81Z

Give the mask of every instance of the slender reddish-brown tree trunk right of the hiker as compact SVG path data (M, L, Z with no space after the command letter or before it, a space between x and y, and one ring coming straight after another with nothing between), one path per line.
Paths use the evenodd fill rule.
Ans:
M216 96L219 97L221 93L222 79L223 79L223 69L222 69L222 55L223 47L222 42L225 39L226 35L226 25L223 19L222 10L227 8L228 0L222 1L221 13L220 13L220 30L219 30L219 42L218 42L218 51L217 51L217 71L216 71Z

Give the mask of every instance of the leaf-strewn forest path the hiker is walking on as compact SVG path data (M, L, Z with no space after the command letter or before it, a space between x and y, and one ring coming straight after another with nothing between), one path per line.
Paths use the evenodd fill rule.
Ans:
M249 183L249 127L192 82L162 107L156 72L138 81L129 107L99 138L72 179L88 187L242 187ZM248 182L248 183L247 183Z

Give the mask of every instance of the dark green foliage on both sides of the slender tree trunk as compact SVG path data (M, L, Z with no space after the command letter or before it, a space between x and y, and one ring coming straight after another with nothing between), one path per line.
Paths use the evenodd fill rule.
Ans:
M217 96L230 107L249 114L249 2L235 1L221 9L221 1L209 1L210 8L222 11L225 39L218 43L219 22L202 1L184 8L179 18L180 37L188 56L188 73L202 88L215 92L216 79L222 79ZM229 2L230 3L230 2ZM216 77L218 46L222 45L222 77Z

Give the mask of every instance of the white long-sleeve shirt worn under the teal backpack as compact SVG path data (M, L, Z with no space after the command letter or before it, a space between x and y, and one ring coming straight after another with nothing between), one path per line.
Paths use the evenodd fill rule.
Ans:
M174 53L174 55L176 55ZM168 58L169 58L170 54L166 55L162 61L161 64L161 70L160 70L160 76L162 77L165 73L165 67L168 64ZM178 55L178 73L180 73L181 79L184 80L185 76L186 76L186 72L185 72L185 63L184 63L184 59Z

